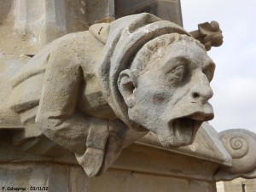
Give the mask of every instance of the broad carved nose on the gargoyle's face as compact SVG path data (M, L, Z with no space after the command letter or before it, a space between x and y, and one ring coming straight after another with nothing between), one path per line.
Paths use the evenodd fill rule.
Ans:
M201 79L195 81L190 94L192 102L206 103L213 96L212 88L208 79L201 76Z

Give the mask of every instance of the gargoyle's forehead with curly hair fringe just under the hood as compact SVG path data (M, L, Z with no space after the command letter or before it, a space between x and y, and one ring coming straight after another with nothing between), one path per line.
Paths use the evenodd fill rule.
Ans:
M215 69L214 62L200 42L177 33L165 34L144 44L131 62L130 69L139 76L151 69L160 70L165 65L170 69L179 62L192 69L210 68L212 72Z

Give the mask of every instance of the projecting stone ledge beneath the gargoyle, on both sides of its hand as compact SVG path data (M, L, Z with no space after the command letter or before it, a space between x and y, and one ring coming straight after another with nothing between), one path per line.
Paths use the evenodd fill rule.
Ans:
M147 139L143 138L124 148L118 160L110 168L212 181L212 175L217 172L219 165L231 166L232 161L227 154L224 154L223 147L218 146L220 143L218 137L209 135L208 128L205 125L201 126L195 137L195 143L182 148L163 148L157 137L154 136L153 143L153 138L149 139L147 136ZM55 156L45 156L20 151L20 146L11 145L11 134L8 134L8 131L1 133L3 139L0 141L0 154L5 154L0 155L1 163L32 161L79 165L70 152L60 154L61 150L59 150L55 151ZM150 135L153 137L152 134ZM44 143L45 148L46 144ZM38 148L42 147L38 146Z

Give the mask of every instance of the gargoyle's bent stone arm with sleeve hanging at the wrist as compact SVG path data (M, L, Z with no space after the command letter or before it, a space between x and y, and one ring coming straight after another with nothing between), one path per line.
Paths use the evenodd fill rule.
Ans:
M83 72L73 60L49 58L36 122L46 137L72 151L92 177L102 167L108 123L77 110Z

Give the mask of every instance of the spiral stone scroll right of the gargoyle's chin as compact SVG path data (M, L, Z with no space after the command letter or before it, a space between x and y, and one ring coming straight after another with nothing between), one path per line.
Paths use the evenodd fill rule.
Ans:
M214 179L219 181L256 177L256 134L236 129L220 132L219 138L232 157L232 166L221 167Z

